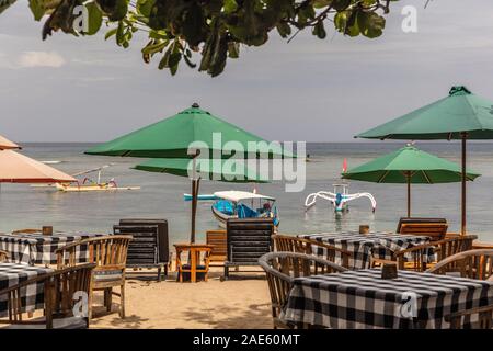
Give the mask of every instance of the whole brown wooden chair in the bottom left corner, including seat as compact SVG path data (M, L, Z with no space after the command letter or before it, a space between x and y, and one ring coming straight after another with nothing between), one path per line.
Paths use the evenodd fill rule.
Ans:
M9 317L0 319L0 324L8 324L12 329L83 329L89 327L89 312L92 288L92 270L95 264L81 264L48 274L28 279L9 288L0 291L0 297L7 295ZM44 316L39 318L24 318L22 292L33 284L44 284ZM88 297L87 310L83 304L80 316L74 315L77 303ZM79 295L80 294L80 295Z

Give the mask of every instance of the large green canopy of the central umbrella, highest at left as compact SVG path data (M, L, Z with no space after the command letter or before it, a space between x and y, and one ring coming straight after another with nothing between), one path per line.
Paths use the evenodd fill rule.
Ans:
M214 141L214 133L220 133L220 145ZM198 104L193 104L192 107L174 116L93 147L85 154L145 158L190 158L188 147L195 141L204 141L208 145L210 151L222 151L223 145L228 141L240 143L246 150L249 141L265 140L211 115L209 112L199 109ZM277 156L293 156L287 152L283 154L280 147L273 147L270 152ZM209 158L215 157L209 155Z

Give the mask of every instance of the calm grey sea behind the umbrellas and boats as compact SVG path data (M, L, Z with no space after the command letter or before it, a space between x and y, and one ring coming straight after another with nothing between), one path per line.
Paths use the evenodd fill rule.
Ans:
M337 182L344 158L355 167L377 156L395 150L403 143L341 143L308 144L306 189L299 193L285 192L285 184L274 182L257 186L260 193L277 199L280 214L279 231L289 234L357 229L369 224L375 230L395 230L399 217L405 214L405 185L352 182L349 192L370 192L377 200L371 213L369 201L355 200L351 211L335 216L328 203L305 212L305 197L316 191L332 190ZM170 240L183 241L190 234L190 203L183 193L190 192L185 178L131 170L141 159L85 156L91 144L24 144L23 154L44 161L61 161L54 167L73 174L113 163L103 172L103 180L115 178L119 185L138 185L140 190L122 192L62 193L50 189L33 189L21 184L2 184L0 192L0 230L53 225L56 230L111 231L119 218L158 217L170 223ZM459 162L457 141L419 143L428 152ZM493 144L469 143L468 167L482 177L468 183L468 231L493 241ZM95 178L96 174L90 174ZM202 193L219 190L252 190L252 185L204 181ZM458 230L460 222L460 184L413 185L414 216L446 217L450 230ZM197 212L198 237L206 229L217 228L209 202L200 202Z

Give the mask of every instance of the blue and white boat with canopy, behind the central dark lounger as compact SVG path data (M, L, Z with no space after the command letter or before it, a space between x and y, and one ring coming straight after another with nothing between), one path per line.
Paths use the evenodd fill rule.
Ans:
M217 201L211 206L213 215L220 227L226 228L229 218L273 218L274 227L279 226L276 200L272 196L245 191L218 191L214 196ZM244 202L250 202L250 206Z

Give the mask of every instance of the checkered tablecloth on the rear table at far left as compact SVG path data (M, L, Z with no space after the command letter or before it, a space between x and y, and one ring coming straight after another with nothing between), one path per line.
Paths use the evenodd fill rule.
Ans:
M91 237L105 234L88 233L54 233L50 236L43 234L1 234L0 250L9 252L9 261L27 264L56 264L55 251L64 246ZM81 247L76 252L78 263L88 260L87 247Z

